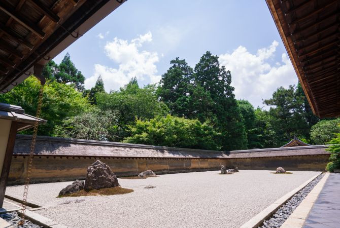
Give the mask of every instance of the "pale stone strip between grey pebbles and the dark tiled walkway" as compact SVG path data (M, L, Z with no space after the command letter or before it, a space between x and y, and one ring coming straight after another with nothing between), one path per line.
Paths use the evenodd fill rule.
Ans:
M303 201L297 206L297 208L293 211L293 213L287 218L287 220L282 224L281 227L302 227L305 220L307 219L314 202L318 198L323 186L326 183L326 180L329 176L329 173L326 173L325 176L319 181L317 185L312 189L312 191L303 199Z

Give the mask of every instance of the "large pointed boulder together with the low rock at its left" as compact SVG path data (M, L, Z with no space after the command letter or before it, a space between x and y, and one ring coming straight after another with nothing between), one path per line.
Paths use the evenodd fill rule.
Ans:
M117 186L120 186L118 179L110 167L107 164L97 160L87 168L85 183L84 181L76 180L72 184L61 189L59 196L76 193L82 189L85 189L85 191L90 191L91 189Z

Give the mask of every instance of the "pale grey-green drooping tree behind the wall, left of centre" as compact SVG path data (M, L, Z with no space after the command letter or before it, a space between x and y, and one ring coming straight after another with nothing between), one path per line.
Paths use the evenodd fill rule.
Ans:
M61 126L57 126L55 136L108 141L112 138L109 129L114 124L114 119L115 115L111 111L91 108L64 120Z

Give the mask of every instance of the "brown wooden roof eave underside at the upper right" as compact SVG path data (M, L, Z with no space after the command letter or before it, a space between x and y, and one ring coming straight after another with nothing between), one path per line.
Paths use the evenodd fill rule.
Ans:
M340 116L340 1L266 2L314 114Z

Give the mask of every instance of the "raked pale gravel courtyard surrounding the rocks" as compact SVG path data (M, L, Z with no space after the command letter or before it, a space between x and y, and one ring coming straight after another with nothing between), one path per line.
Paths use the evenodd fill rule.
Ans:
M28 199L50 205L37 210L69 227L239 227L271 203L320 172L240 170L120 179L133 193L116 196L56 198L72 182L32 184ZM146 189L146 185L156 186ZM21 198L23 186L7 187ZM81 202L76 202L84 200Z

